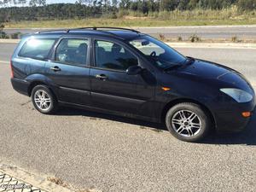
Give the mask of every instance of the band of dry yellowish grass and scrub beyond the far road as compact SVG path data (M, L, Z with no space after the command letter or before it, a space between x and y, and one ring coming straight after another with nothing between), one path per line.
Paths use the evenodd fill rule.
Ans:
M120 11L118 19L84 18L81 20L37 20L5 23L6 27L15 28L55 28L55 27L81 27L81 26L209 26L209 25L255 25L256 10L241 12L236 6L222 10L175 10L142 13Z

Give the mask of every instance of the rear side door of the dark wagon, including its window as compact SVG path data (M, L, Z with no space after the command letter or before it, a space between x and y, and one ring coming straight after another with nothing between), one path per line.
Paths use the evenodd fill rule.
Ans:
M90 105L89 45L89 38L61 38L46 62L46 74L61 102Z

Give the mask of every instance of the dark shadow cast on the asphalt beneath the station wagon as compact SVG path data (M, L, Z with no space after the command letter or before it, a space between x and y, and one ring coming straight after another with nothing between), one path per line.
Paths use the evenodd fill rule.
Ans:
M127 123L131 125L139 125L141 129L147 127L151 128L152 131L162 132L167 131L166 125L157 124L148 121L143 121L140 119L131 119L126 117L121 117L117 115L107 114L107 113L97 113L86 110L81 110L77 108L61 108L57 115L61 116L84 116L89 117L90 119L108 119L117 122ZM247 128L244 131L239 133L212 133L201 143L205 144L244 144L253 146L256 145L256 113L254 113L250 123L247 125Z

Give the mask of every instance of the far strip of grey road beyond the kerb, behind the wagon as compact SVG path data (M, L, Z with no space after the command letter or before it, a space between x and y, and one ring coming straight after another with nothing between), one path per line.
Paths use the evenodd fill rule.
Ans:
M172 26L172 27L139 27L140 32L145 32L153 36L159 34L165 35L166 38L189 38L196 34L201 38L227 38L234 36L243 39L256 38L256 26ZM7 33L31 33L38 32L42 29L5 29Z

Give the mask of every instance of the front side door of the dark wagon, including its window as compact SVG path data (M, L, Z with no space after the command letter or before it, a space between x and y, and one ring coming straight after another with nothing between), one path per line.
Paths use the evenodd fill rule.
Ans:
M138 113L154 96L154 85L142 74L128 75L128 67L140 65L137 55L124 45L95 39L90 68L91 101L96 108Z

